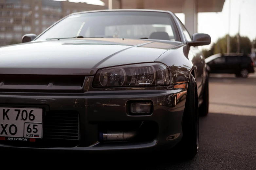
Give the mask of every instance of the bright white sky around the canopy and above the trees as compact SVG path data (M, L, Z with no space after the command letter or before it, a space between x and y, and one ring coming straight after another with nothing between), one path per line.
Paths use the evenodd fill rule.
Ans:
M63 0L58 0L63 1ZM100 0L69 0L71 2L86 2L88 4L104 5ZM244 3L241 3L244 1ZM230 35L238 33L239 9L241 7L240 35L248 36L252 41L256 38L256 0L225 0L222 12L198 13L197 32L211 36L211 44L218 38L228 34L229 24L229 2L230 2ZM186 25L185 15L176 13L177 17ZM203 46L210 49L211 44Z

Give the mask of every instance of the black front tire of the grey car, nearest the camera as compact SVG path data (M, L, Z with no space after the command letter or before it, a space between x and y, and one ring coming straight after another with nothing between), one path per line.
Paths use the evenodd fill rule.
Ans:
M191 75L185 110L182 120L183 136L177 145L177 152L185 160L192 160L198 152L199 143L199 120L198 120L198 97L195 78Z

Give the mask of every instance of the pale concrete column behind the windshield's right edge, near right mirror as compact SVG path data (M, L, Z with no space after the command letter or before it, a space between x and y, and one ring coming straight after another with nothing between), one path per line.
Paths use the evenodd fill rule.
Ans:
M183 0L185 26L190 35L197 33L197 0Z

